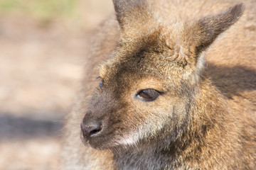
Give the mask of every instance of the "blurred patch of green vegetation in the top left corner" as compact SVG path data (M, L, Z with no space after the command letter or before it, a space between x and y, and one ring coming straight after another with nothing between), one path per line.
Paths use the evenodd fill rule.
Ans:
M0 15L21 12L29 16L51 20L55 17L72 17L78 0L0 0Z

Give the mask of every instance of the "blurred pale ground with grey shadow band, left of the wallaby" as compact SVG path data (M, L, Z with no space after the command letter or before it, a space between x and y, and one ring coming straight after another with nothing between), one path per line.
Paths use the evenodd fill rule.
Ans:
M0 169L58 169L63 120L111 0L0 0Z

